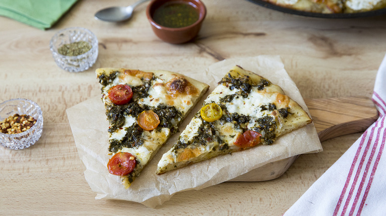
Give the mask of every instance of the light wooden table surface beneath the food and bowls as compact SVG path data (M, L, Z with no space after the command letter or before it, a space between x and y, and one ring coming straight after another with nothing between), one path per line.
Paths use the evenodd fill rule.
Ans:
M35 145L24 150L0 147L0 215L281 216L360 136L323 142L323 152L301 155L278 179L180 192L155 209L95 200L65 112L100 94L95 69L163 69L189 75L227 58L280 55L304 98L371 97L386 51L386 16L317 19L247 0L203 0L208 12L199 36L183 45L162 42L153 34L145 4L129 22L93 17L100 8L134 1L81 0L47 31L0 17L0 102L27 98L38 103L44 115L43 135ZM74 26L90 29L99 40L97 63L85 72L59 69L48 47L55 32Z

